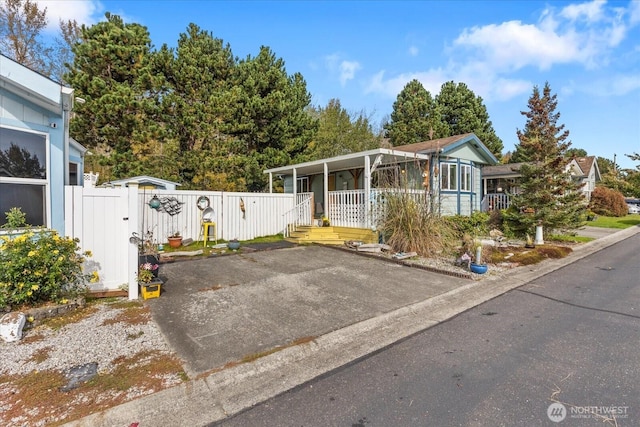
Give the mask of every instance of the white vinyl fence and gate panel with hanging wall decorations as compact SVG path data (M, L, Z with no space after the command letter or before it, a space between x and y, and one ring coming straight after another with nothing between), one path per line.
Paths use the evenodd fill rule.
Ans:
M154 196L160 201L158 209L149 205ZM178 231L184 239L202 240L202 211L197 205L201 196L209 200L221 240L282 233L283 215L295 204L293 194L145 190L137 184L65 187L65 235L78 238L82 250L93 253L87 267L98 271L100 281L92 289L128 285L129 298L138 298L138 247L129 239L134 233L151 232L154 244L166 243Z

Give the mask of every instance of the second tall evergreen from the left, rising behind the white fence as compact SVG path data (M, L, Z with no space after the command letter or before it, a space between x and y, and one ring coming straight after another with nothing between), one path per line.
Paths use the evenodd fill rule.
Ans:
M162 98L167 138L179 147L178 179L185 188L242 190L242 168L224 134L235 69L231 48L210 32L189 24L175 52L163 46L168 91ZM237 154L237 153L236 153ZM235 172L235 173L234 173Z

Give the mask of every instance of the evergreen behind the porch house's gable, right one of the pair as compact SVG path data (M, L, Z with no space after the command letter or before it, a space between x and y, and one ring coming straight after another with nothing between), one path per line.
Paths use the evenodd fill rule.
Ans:
M476 96L464 83L446 82L435 99L446 126L446 135L462 135L473 132L480 141L500 159L504 148L498 138L482 98Z

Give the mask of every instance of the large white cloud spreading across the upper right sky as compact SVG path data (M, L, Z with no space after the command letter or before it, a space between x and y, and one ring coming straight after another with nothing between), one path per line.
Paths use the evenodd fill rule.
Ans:
M465 82L485 101L505 101L527 94L533 83L518 74L527 68L548 71L556 65L574 65L587 69L605 68L613 50L628 37L632 23L640 23L640 1L628 8L607 7L595 0L575 3L560 10L544 9L537 22L518 20L466 28L444 54L449 63L444 68L416 70L395 76L384 71L374 75L366 93L380 93L395 98L413 78L432 94L442 83ZM578 69L574 72L580 72ZM611 76L587 89L575 83L565 85L565 94L597 91L598 94L621 95L638 89L640 76Z

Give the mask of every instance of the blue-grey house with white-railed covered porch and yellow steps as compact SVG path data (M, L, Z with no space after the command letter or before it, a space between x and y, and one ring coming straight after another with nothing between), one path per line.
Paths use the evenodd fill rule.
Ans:
M472 133L392 148L377 148L266 170L294 193L299 217L327 216L332 225L370 228L388 187L435 200L443 215L480 210L481 170L496 158ZM305 208L308 206L308 208ZM308 210L311 210L308 212Z

